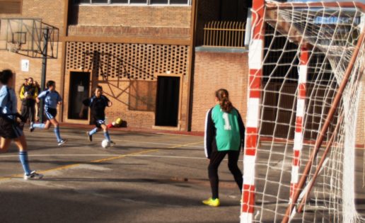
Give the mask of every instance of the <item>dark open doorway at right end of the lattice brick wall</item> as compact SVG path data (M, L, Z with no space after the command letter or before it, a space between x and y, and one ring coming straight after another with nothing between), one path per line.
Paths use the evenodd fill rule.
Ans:
M178 126L180 77L158 76L156 125Z

